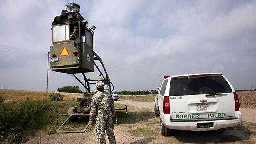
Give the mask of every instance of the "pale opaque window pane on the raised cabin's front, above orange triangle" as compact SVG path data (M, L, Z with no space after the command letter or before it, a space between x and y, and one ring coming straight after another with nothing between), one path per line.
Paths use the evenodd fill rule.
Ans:
M66 40L66 26L54 26L53 27L53 41L60 42Z

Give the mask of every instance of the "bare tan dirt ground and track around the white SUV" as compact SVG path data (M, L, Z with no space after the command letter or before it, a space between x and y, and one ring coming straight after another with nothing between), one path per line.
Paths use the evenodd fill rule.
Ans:
M223 134L215 132L190 132L184 130L173 130L172 135L164 137L160 134L160 118L154 116L154 102L136 102L131 100L119 100L116 103L128 104L136 109L144 109L148 116L146 120L135 122L124 122L120 125L114 126L114 134L116 136L117 144L169 144L169 143L232 143L232 144L255 144L256 136L254 131L251 132L245 126L254 123L252 130L255 127L256 109L242 108L241 112L250 112L244 114L243 121L236 126L234 130L227 129ZM129 112L129 108L128 108ZM254 114L252 114L252 113ZM250 122L250 123L249 123ZM90 127L89 129L92 129ZM95 131L85 132L82 134L76 133L58 133L52 135L44 135L40 137L30 137L26 144L95 144ZM106 142L108 139L106 136Z

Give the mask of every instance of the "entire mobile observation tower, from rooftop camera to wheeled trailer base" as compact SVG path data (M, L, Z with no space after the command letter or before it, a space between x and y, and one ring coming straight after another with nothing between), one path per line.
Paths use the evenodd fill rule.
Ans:
M100 56L94 51L94 30L95 26L89 28L88 22L79 13L80 6L75 3L68 3L66 5L68 10L73 12L67 12L62 10L61 15L56 16L52 22L52 45L50 48L50 70L72 74L79 82L84 86L85 93L84 98L77 98L76 106L68 108L68 114L60 114L56 111L57 124L58 116L67 116L68 118L62 123L62 125L56 130L56 132L85 132L89 126L86 125L84 130L80 131L68 131L60 130L62 126L69 120L70 122L76 122L78 117L90 116L91 99L96 91L96 86L91 89L91 84L96 84L97 81L102 81L106 85L104 88L108 92L114 90L113 84L110 82L106 68L102 62ZM99 67L96 64L96 60L100 62ZM94 69L99 72L100 78L87 78L86 73L94 72ZM102 69L102 71L101 71ZM79 80L75 74L82 74L84 83ZM113 89L112 87L113 86ZM115 110L126 110L115 109ZM116 119L117 122L117 119Z

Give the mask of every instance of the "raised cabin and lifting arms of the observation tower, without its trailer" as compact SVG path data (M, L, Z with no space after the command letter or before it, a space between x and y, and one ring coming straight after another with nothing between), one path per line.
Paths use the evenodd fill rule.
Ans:
M100 56L94 52L94 30L96 27L89 28L88 22L78 11L62 10L61 15L56 16L52 22L50 70L72 74L85 87L87 96L90 96L90 93L95 90L95 88L90 89L90 84L96 84L99 80L107 85L105 90L112 92L112 83L106 68ZM100 62L104 72L100 70L100 67L94 62L95 60ZM85 73L94 72L94 66L100 73L100 78L87 78ZM78 73L83 75L85 83L75 75Z

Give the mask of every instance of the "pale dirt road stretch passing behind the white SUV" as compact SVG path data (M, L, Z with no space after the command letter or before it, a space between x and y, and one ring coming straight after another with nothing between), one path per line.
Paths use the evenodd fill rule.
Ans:
M154 110L154 102L138 102L133 100L122 100L115 101L119 104L128 104L137 108L147 108ZM240 108L242 113L242 121L256 123L256 109L252 108Z

